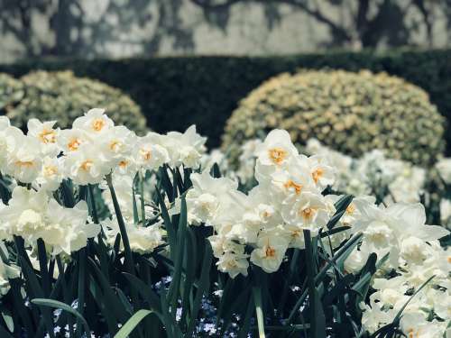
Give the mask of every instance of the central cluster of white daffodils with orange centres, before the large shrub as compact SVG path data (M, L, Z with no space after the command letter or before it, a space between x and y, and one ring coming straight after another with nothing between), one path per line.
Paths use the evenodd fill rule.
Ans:
M303 230L318 234L335 213L336 196L321 195L335 176L324 157L299 155L281 130L270 132L256 151L259 185L249 194L207 170L191 175L187 194L189 223L213 226L209 241L218 269L231 277L247 275L249 260L276 271L288 248L304 248Z

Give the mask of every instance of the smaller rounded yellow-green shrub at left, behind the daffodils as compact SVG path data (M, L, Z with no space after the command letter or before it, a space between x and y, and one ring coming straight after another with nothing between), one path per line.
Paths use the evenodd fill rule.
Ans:
M30 118L57 120L61 128L91 108L104 108L116 124L134 132L147 131L146 119L133 100L119 89L90 78L77 78L71 71L35 71L20 78L23 97L6 110L14 125L26 126Z

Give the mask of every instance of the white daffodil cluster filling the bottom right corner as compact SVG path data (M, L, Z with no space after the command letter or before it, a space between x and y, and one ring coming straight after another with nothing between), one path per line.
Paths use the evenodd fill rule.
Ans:
M352 231L363 233L363 240L345 261L345 269L359 271L372 252L378 258L388 255L373 280L370 304L361 305L364 328L373 333L391 324L412 293L432 279L404 308L400 325L408 336L443 337L451 315L451 251L442 248L438 239L449 232L438 225L425 225L420 204L386 208L367 204L361 213L364 217L354 223Z

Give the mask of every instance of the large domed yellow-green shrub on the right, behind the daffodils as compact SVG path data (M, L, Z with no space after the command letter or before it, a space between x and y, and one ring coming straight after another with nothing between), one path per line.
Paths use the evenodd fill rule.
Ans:
M423 166L445 148L445 119L428 94L367 70L301 70L267 80L227 121L223 148L236 156L240 144L274 128L288 130L300 145L314 137L354 157L381 149Z

